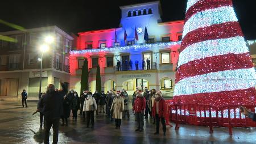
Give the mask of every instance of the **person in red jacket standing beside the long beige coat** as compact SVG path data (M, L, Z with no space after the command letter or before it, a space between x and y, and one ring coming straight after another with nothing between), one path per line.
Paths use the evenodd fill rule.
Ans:
M146 100L141 94L141 92L137 92L136 98L133 105L133 111L135 112L135 117L137 120L137 129L135 132L143 132L144 131L144 111L146 107Z

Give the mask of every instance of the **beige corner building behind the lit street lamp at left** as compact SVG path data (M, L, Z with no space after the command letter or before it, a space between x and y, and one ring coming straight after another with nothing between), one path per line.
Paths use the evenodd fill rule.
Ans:
M39 45L51 35L54 41L44 52L42 92L47 84L60 88L60 81L69 82L69 52L73 37L56 26L0 32L0 96L20 96L23 89L28 98L38 98L40 61Z

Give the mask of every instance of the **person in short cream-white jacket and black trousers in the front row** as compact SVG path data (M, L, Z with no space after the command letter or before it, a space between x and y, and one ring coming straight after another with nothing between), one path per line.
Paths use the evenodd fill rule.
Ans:
M87 98L84 101L84 107L82 111L86 112L86 128L89 128L90 120L92 124L92 128L94 126L94 111L97 110L97 103L96 100L92 97L92 92L88 92Z

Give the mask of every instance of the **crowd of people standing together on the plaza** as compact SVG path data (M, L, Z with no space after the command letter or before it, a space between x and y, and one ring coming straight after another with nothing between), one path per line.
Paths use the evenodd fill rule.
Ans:
M68 92L67 86L61 83L62 90L56 90L53 84L49 84L46 93L39 94L38 107L36 112L40 112L40 127L44 125L45 138L44 142L49 141L49 130L53 128L53 143L57 143L60 119L62 126L68 126L69 117L77 121L77 115L81 115L82 121L85 122L86 128L94 127L94 113L99 115L103 113L110 121L115 121L115 129L120 129L123 118L130 118L129 112L129 95L123 89L120 91L104 91L94 94L90 91L83 90L78 96L77 92L71 90ZM144 131L144 119L154 118L153 124L156 125L156 132L159 134L159 122L163 125L163 135L166 135L165 114L167 111L166 103L160 91L155 89L151 91L144 88L142 94L139 88L134 91L130 106L137 121L135 132ZM43 120L44 117L44 120Z

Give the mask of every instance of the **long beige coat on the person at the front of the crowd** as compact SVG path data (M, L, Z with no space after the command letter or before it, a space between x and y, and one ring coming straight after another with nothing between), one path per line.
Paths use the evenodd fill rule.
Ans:
M123 111L125 109L123 98L120 96L119 98L115 97L111 109L113 109L113 118L122 119Z

